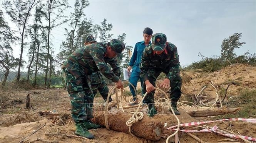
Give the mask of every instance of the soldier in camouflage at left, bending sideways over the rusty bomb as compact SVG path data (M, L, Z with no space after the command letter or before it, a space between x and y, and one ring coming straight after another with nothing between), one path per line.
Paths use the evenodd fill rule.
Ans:
M115 82L117 88L123 88L121 80L113 72L120 70L115 57L119 57L124 48L124 43L117 39L107 44L96 42L76 50L63 63L62 72L71 102L71 115L75 121L75 134L94 138L88 130L100 127L89 120L93 117L94 94L86 76L100 71L106 78ZM113 72L106 63L110 64Z

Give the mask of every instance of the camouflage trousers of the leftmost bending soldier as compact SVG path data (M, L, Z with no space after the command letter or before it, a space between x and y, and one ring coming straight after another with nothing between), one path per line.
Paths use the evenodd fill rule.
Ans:
M94 94L90 83L78 68L62 69L71 103L71 115L75 122L91 119ZM86 92L85 92L86 91Z

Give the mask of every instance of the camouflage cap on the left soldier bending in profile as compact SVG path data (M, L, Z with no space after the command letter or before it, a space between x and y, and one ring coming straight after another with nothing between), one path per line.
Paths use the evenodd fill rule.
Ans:
M109 42L109 46L115 51L117 57L119 59L122 59L122 52L125 48L125 45L122 41L118 40L118 39L112 39L110 42Z

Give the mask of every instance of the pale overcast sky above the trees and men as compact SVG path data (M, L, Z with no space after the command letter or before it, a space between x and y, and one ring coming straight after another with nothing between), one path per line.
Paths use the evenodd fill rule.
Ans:
M125 33L125 42L129 46L134 47L136 42L143 41L142 32L146 27L153 29L153 33L166 34L167 41L177 46L182 66L201 60L197 56L199 52L206 57L220 55L223 39L234 33L243 33L240 41L246 42L243 47L235 50L236 54L256 52L254 0L89 2L90 5L84 10L86 17L92 18L94 24L100 24L105 18L107 23L113 25L112 38ZM73 8L74 3L69 1ZM73 8L66 12L67 15ZM60 43L65 40L63 28L68 28L68 25L63 24L52 31L55 54ZM19 54L15 55L18 57Z

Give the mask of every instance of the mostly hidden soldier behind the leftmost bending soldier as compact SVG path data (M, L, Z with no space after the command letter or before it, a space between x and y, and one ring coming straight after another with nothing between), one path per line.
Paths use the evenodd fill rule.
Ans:
M89 44L95 43L93 36L88 36L85 39L84 45L87 46ZM114 59L113 59L114 60ZM118 70L118 73L115 73L118 77L120 77L121 71ZM92 92L94 96L96 95L97 91L99 90L100 95L104 99L104 101L107 101L107 96L109 93L109 88L107 87L107 84L105 83L104 79L102 78L102 73L101 72L94 72L92 75L88 75L87 79L90 79L90 85L92 88ZM86 91L85 91L86 92ZM111 96L109 98L109 102L113 101Z

